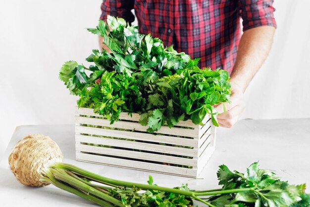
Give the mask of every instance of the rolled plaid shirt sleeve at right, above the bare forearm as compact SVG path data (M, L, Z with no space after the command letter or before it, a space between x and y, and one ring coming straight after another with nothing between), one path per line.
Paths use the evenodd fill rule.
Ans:
M273 0L239 0L240 15L243 19L243 31L259 26L273 26Z

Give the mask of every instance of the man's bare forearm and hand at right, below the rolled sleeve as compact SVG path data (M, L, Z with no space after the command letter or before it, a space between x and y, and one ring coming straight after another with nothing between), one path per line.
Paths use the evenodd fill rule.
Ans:
M260 26L246 30L241 37L234 69L231 73L231 103L226 104L226 114L223 106L216 110L221 127L231 128L238 121L245 108L243 94L258 69L268 56L275 28L272 26Z

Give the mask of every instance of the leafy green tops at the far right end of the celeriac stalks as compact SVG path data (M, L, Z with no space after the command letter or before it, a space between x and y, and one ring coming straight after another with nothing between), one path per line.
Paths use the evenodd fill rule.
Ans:
M290 185L281 181L273 172L259 169L258 163L247 168L246 173L231 172L227 166L219 166L218 195L208 198L216 207L309 207L310 195L306 185Z

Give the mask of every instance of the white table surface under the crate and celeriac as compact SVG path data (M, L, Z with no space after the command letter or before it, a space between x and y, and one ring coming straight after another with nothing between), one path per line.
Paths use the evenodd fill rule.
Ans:
M20 126L16 128L0 162L0 206L96 206L52 185L33 188L17 182L8 167L8 154L17 140L37 133L48 135L58 143L64 162L119 180L146 183L152 174L158 185L175 187L188 183L191 189L213 189L217 187L218 165L226 164L231 170L244 172L251 163L259 161L262 168L274 170L291 184L306 183L310 186L310 119L241 120L232 129L219 128L215 152L199 175L201 179L76 161L74 125Z

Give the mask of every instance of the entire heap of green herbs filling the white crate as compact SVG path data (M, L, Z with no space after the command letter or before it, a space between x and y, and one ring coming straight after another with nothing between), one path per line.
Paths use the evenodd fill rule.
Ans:
M93 108L111 124L120 112L139 113L150 133L180 120L202 124L207 115L218 126L213 106L229 101L227 71L199 69L199 59L164 47L161 40L140 34L122 18L108 16L107 24L100 21L88 30L101 35L111 53L93 50L86 59L93 64L88 68L75 61L61 67L59 79L80 96L79 107Z

